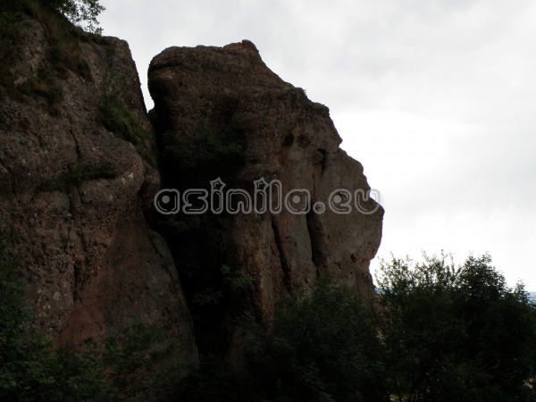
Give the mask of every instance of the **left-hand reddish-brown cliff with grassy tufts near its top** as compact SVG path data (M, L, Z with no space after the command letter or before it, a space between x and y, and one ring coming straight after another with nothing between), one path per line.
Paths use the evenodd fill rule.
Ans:
M128 44L80 41L90 71L82 78L54 67L44 26L21 19L23 39L12 71L15 84L31 90L2 95L0 219L13 222L20 234L15 251L38 329L59 345L80 346L121 323L158 324L179 339L182 357L197 361L170 251L142 214L160 177L146 161L155 139ZM54 109L29 84L43 74L63 93ZM148 133L136 146L98 118L106 83L119 78L121 104Z

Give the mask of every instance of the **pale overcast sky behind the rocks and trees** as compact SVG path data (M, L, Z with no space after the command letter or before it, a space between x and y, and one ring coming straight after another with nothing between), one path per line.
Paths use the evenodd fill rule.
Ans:
M169 46L249 39L282 80L327 105L385 207L378 257L456 264L489 252L536 290L536 2L101 0L147 109Z

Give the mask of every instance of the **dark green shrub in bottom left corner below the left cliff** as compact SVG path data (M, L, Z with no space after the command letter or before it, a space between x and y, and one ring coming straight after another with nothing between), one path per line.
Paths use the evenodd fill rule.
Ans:
M95 359L53 351L52 339L29 331L18 257L10 252L13 228L0 232L0 399L88 401L109 393ZM104 399L102 399L104 400Z

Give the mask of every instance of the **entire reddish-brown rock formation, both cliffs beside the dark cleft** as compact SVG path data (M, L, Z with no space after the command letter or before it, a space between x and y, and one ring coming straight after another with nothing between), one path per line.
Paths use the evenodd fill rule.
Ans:
M171 47L155 56L149 122L126 42L72 26L54 37L27 15L17 23L12 78L2 78L0 92L0 220L18 234L36 330L57 346L81 346L121 323L144 322L178 340L184 360L198 362L202 348L236 363L235 319L269 320L296 286L308 289L331 272L367 297L383 209L366 197L362 165L339 148L328 108L268 69L255 45ZM191 158L202 164L170 168ZM197 183L197 169L238 190L227 212L163 220L155 194L173 183L184 191ZM239 199L265 211L230 213ZM170 235L170 223L182 238ZM201 258L191 259L190 246ZM208 272L201 285L192 269ZM204 289L204 278L226 285ZM230 291L239 280L240 290Z

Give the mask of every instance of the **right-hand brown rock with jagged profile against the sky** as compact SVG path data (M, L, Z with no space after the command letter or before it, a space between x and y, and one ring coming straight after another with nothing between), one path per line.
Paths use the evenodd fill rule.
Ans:
M233 121L247 141L233 188L246 189L254 199L255 180L281 181L281 212L273 197L272 212L226 215L231 270L253 281L245 293L231 297L222 325L229 327L244 312L269 319L279 297L291 294L297 282L309 287L326 271L366 297L383 209L363 197L370 189L363 166L339 148L328 108L270 71L247 40L223 47L170 47L155 56L148 74L160 131L186 141L199 121ZM333 212L348 209L349 214ZM232 360L238 330L231 328L227 337Z

